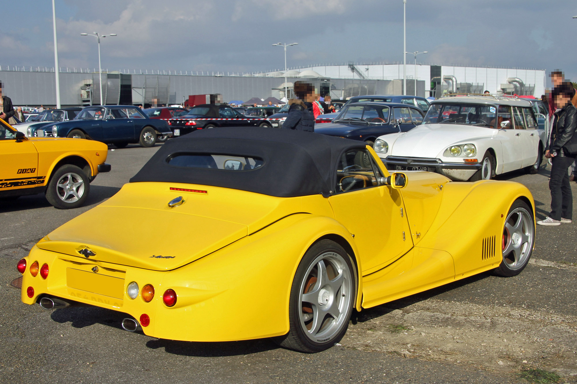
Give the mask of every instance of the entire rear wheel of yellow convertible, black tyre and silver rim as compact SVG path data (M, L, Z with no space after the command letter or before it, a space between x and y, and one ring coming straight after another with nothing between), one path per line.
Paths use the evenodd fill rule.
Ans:
M319 281L314 275L319 276L321 261L324 271ZM327 239L313 244L299 263L291 287L290 330L273 340L281 347L306 353L331 348L347 332L357 285L354 263L343 247ZM312 301L305 299L307 293ZM338 313L337 317L332 313Z

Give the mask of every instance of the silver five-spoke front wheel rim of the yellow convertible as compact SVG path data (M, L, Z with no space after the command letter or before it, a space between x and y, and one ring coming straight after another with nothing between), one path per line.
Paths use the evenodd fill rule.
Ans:
M531 255L534 231L531 215L526 209L515 208L508 214L501 247L507 268L511 270L523 268Z

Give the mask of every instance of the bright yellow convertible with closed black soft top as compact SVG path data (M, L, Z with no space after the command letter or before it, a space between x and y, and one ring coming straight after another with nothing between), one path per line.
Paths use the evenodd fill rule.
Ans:
M108 308L158 338L271 337L318 352L353 308L486 270L518 274L534 234L518 183L389 175L363 142L216 128L168 141L18 270L27 304Z

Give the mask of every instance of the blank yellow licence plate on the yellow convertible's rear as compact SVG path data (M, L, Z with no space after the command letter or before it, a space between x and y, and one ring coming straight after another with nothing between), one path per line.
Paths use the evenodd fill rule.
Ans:
M105 274L88 272L76 268L66 268L66 285L81 291L122 299L124 295L124 279L106 276Z

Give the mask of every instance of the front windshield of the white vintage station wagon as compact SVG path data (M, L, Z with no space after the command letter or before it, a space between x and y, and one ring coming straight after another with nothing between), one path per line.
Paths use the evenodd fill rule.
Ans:
M487 104L431 104L423 124L460 124L494 128L497 108Z

